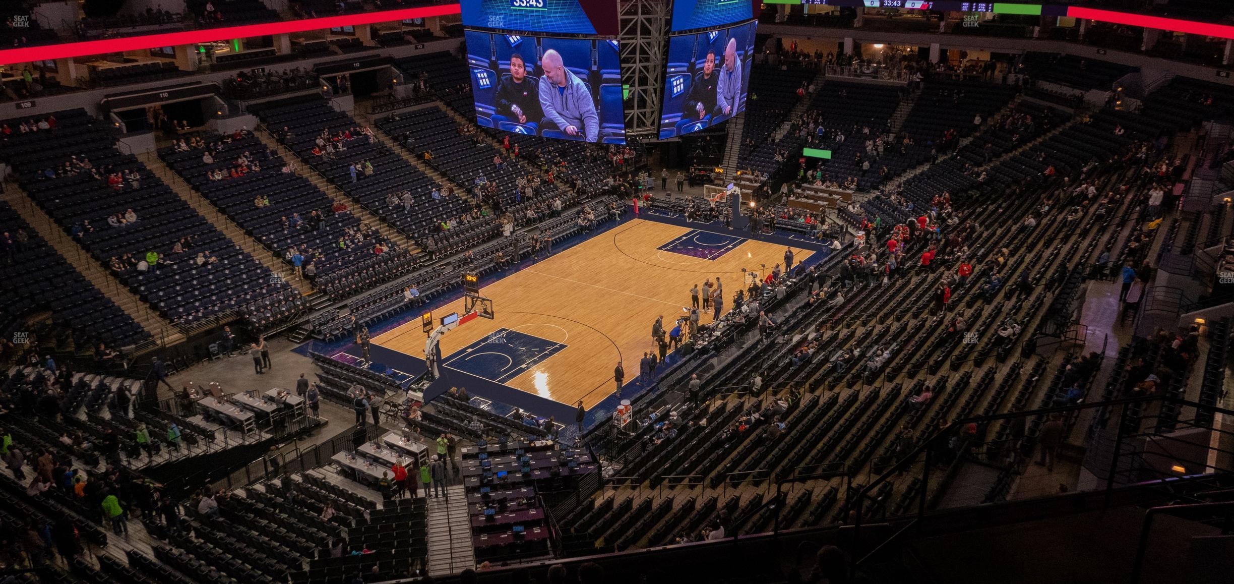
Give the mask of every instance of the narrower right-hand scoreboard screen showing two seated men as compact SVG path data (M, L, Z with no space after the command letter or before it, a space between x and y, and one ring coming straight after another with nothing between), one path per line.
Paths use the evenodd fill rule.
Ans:
M660 140L697 132L745 110L756 26L750 21L669 38Z

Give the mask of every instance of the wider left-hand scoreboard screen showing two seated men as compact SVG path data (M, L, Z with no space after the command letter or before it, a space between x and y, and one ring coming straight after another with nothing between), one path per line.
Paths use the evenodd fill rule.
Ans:
M617 41L466 31L476 123L626 143Z

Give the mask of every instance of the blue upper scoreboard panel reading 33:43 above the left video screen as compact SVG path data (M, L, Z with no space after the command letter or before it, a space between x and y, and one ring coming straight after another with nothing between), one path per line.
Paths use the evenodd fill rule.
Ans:
M617 0L460 0L463 26L558 35L617 35Z

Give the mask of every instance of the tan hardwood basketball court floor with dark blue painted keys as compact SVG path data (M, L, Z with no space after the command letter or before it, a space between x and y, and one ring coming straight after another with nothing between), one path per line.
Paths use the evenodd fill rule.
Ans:
M613 393L618 358L624 361L627 383L638 377L643 352L654 348L655 317L664 315L665 328L671 328L682 307L690 306L692 285L719 278L727 310L743 285L742 268L765 274L784 262L784 247L738 240L738 233L632 220L554 252L481 289L492 300L495 319L474 319L445 333L442 361L558 403L582 400L591 409ZM660 249L666 244L677 252ZM793 248L795 262L811 253ZM462 310L460 299L433 315L439 319ZM703 323L711 322L711 311L701 316ZM490 335L501 330L513 335L494 341ZM418 320L373 342L423 357ZM464 348L470 351L455 354Z

